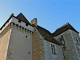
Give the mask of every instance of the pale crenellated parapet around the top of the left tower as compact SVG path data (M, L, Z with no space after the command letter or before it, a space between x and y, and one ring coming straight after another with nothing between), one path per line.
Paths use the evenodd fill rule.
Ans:
M5 29L7 28L11 23L14 23L15 25L18 25L22 28L25 28L29 31L34 31L34 28L30 25L30 24L27 24L26 22L24 21L21 21L19 20L17 17L14 16L14 14L12 13L9 17L9 19L4 23L4 25L0 28L0 33Z

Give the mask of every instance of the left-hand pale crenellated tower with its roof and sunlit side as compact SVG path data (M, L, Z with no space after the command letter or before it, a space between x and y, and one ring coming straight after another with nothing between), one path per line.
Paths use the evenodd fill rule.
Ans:
M32 60L33 30L22 13L11 14L0 29L0 60Z

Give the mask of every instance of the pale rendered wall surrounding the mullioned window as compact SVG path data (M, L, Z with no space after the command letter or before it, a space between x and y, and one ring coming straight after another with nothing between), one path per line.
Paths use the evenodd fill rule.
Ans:
M56 54L52 53L51 50L51 44L55 45L55 51ZM44 54L45 54L45 60L63 60L62 55L62 47L59 45L56 45L52 42L49 42L47 40L44 40Z

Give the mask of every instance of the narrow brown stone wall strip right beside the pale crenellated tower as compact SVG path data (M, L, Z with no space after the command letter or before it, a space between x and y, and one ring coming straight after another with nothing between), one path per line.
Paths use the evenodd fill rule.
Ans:
M33 52L33 60L45 60L44 59L44 38L40 35L36 28L34 28L33 32L33 44L32 44L32 52Z

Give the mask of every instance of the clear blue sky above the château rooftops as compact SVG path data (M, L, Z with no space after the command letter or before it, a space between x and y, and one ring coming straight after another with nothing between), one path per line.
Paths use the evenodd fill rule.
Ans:
M69 22L80 32L80 1L78 0L0 0L0 27L11 13L23 13L31 21L54 32Z

